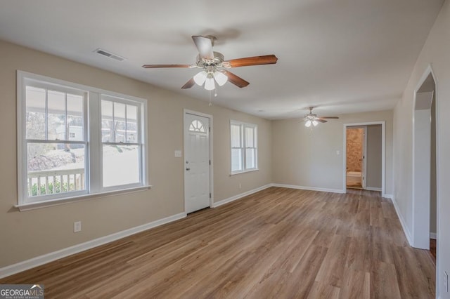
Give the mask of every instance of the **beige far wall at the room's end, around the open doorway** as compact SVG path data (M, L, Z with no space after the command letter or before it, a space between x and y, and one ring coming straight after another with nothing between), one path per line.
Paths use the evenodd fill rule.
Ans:
M385 192L392 194L392 111L342 114L339 117L312 130L298 119L273 121L274 183L343 190L344 125L385 121Z

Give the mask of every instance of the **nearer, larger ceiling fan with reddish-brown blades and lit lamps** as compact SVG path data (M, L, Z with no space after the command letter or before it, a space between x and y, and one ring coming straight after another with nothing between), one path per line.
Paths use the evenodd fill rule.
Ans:
M224 60L224 55L212 51L214 42L217 40L215 36L192 36L195 46L198 49L197 60L195 65L143 65L143 68L152 69L158 67L186 67L202 69L201 72L195 74L193 78L181 86L181 88L191 88L194 84L203 86L205 89L212 91L216 88L216 83L219 86L223 86L226 81L230 81L232 84L243 88L250 84L248 81L236 76L232 72L226 69L231 67L247 67L250 65L272 65L276 63L278 58L275 55L253 56L247 58L238 58L232 60Z

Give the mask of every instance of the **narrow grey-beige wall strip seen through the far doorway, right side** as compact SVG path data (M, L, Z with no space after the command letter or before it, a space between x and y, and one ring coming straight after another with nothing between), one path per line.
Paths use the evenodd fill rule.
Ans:
M381 125L367 126L366 187L381 188L382 171Z

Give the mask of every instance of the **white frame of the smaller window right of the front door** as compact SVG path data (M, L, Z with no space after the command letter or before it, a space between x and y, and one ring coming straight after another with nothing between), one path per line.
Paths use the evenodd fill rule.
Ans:
M237 170L237 171L233 171L233 148L237 148L237 147L232 147L231 144L231 126L239 126L240 127L240 145L241 147L238 147L240 149L242 149L242 158L241 158L241 165L242 165L242 169ZM247 140L245 140L245 128L252 128L253 132L254 132L254 144L255 147L247 147ZM255 167L253 168L246 168L247 165L247 148L255 148ZM242 121L235 121L235 120L231 120L230 121L230 173L231 175L235 175L238 173L248 173L250 171L258 171L258 126L256 124L248 124Z

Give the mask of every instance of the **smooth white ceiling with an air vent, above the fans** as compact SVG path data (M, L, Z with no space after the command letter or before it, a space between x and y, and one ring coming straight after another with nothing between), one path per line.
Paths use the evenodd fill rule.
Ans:
M236 67L214 105L267 119L392 109L444 0L0 0L0 39L181 90L198 69L191 35L214 35L225 59L275 54L276 65ZM117 62L96 48L127 58Z

